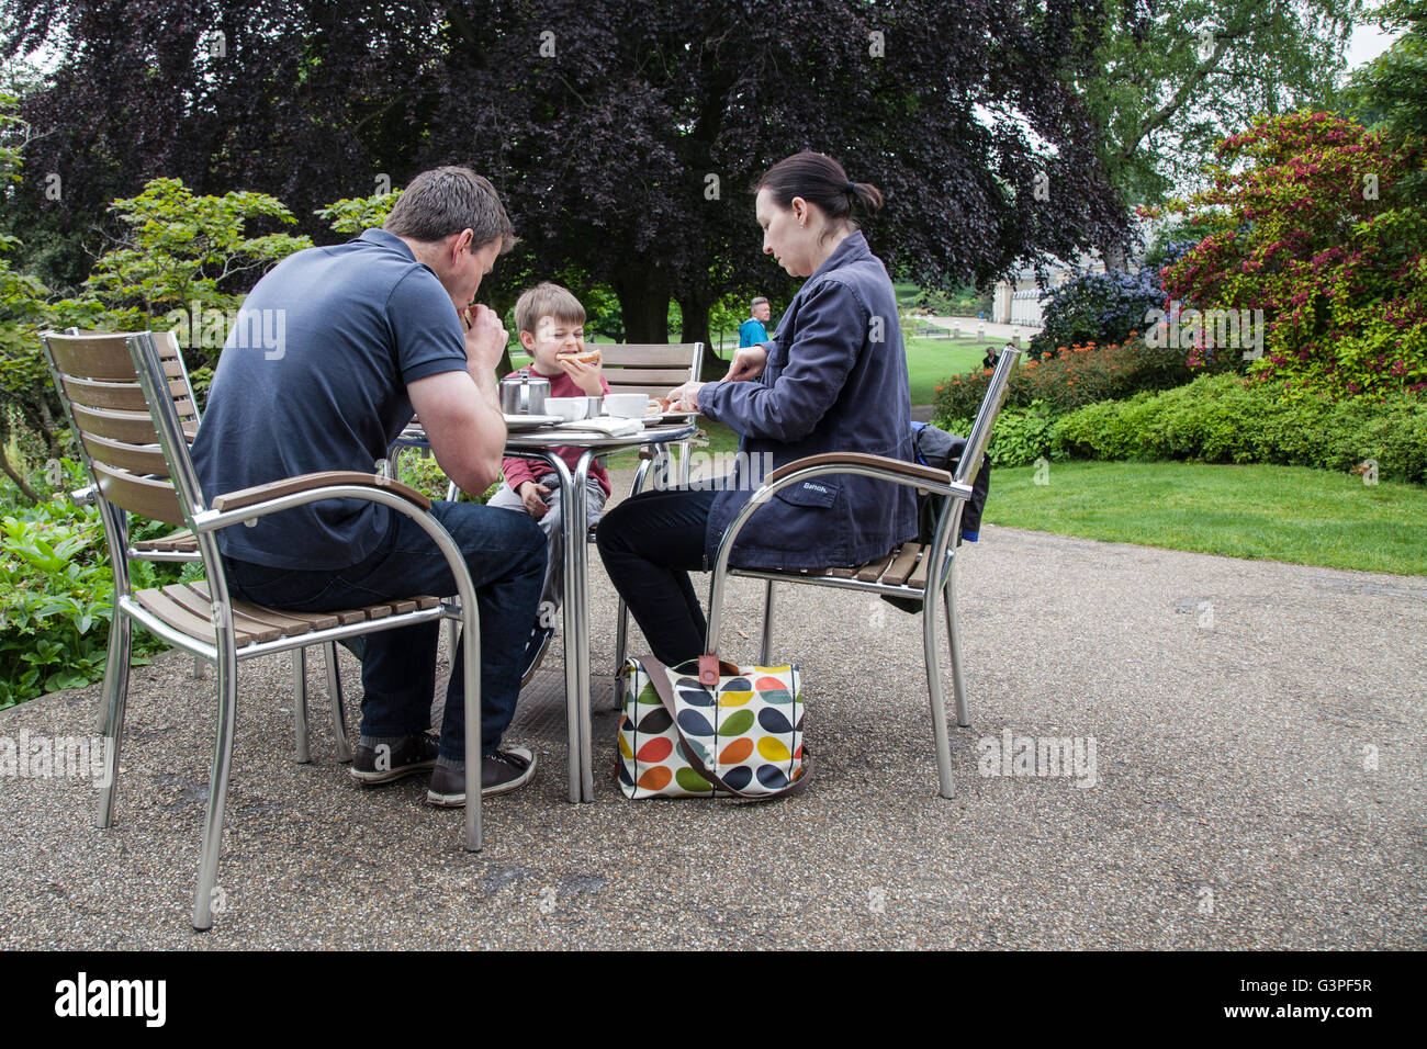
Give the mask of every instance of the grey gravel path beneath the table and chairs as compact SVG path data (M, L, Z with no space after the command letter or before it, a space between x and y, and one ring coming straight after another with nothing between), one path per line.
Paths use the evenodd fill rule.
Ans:
M605 672L614 591L595 561ZM973 726L952 729L950 801L919 619L860 595L782 592L808 791L624 801L601 678L598 801L569 805L551 672L512 731L541 772L488 802L479 855L422 782L351 784L317 668L314 762L295 765L288 661L265 659L243 671L223 911L198 936L211 675L170 654L133 671L111 829L93 828L83 779L0 778L0 946L1427 946L1427 579L996 527L960 561ZM758 595L733 588L745 608ZM756 639L756 615L725 638L748 662L739 631ZM88 735L97 696L3 711L0 738ZM1023 736L1079 741L1079 775L982 775L1015 772L992 755Z

